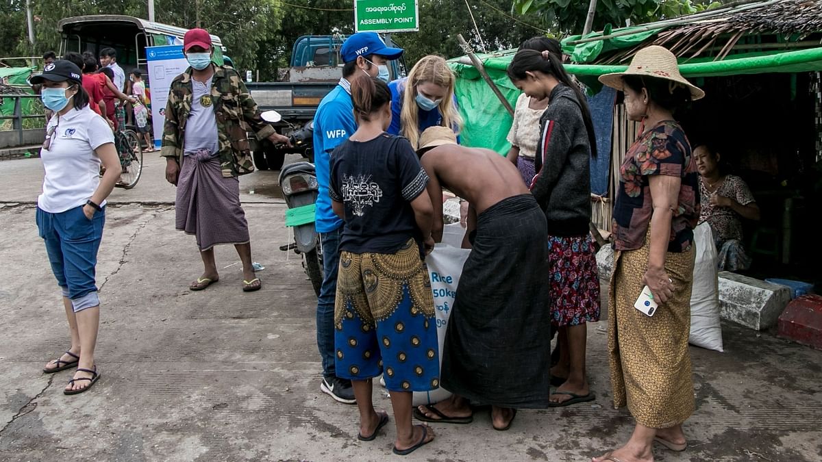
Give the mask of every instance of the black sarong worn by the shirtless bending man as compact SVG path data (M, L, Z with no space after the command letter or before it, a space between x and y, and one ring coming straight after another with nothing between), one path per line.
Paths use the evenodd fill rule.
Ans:
M551 301L545 214L530 194L477 217L442 358L442 387L483 404L548 405Z

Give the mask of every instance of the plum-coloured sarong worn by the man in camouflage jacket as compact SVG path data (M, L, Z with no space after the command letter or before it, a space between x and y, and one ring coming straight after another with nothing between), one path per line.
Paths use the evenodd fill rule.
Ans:
M240 180L224 178L219 159L207 151L189 155L182 162L175 211L176 228L194 234L201 251L250 240L240 206Z

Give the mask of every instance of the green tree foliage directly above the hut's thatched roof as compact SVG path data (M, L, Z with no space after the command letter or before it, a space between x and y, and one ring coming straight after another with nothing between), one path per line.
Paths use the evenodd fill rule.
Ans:
M593 16L593 30L606 25L659 21L700 12L719 2L706 0L598 0ZM514 11L525 18L538 18L552 25L561 35L581 34L588 16L589 2L580 0L514 0Z

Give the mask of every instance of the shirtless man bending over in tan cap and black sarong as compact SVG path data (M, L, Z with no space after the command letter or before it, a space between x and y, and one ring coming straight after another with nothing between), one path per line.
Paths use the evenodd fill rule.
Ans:
M471 401L492 405L507 430L516 409L546 408L551 323L547 224L520 171L492 150L456 144L448 127L420 136L434 206L432 236L442 238L442 188L469 201L463 247L471 248L443 347L441 384L454 395L415 409L419 420L469 423ZM435 250L436 252L436 250Z

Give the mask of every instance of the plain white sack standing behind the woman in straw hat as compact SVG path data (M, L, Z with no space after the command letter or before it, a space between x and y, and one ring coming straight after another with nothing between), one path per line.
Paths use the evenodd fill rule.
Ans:
M710 225L705 222L694 229L696 260L694 287L690 292L690 338L688 343L723 351L722 326L719 321L719 280L717 249Z

